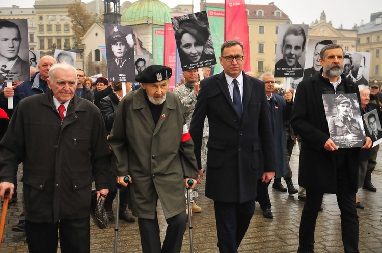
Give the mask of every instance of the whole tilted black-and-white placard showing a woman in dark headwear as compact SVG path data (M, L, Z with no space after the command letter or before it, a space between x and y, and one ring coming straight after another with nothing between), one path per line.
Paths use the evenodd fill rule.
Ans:
M182 70L216 64L207 12L172 18Z

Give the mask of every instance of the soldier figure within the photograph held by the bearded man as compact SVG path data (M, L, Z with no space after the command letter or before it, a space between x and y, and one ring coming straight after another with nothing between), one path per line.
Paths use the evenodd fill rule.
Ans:
M329 133L333 142L340 144L341 142L364 140L365 136L360 123L350 115L350 100L346 96L340 95L336 98L336 105L339 114L332 116L328 122Z

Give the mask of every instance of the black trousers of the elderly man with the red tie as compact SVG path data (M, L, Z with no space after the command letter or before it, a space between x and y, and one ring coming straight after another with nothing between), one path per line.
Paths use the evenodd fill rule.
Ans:
M63 219L57 223L33 223L25 221L26 243L30 253L56 253L60 233L62 253L90 252L90 221Z

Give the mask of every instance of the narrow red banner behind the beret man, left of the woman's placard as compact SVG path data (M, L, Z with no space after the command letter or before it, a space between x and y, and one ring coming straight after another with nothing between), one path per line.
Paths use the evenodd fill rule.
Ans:
M165 24L165 57L163 65L172 69L172 78L170 79L169 90L175 89L175 73L176 73L176 41L173 24Z

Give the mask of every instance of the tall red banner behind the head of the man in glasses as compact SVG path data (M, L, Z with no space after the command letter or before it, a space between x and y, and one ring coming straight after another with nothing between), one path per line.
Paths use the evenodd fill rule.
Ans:
M238 40L244 46L246 60L244 71L251 71L250 67L250 40L248 37L247 11L244 0L225 0L225 33L224 40Z

